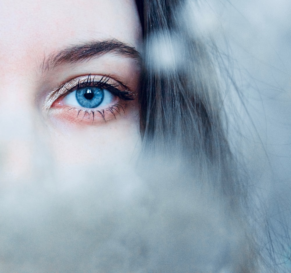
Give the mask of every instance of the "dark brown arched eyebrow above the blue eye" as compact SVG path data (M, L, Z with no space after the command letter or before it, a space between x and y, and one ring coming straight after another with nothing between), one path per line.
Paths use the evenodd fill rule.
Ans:
M134 58L138 61L141 60L139 52L134 47L116 39L88 41L83 44L65 48L57 53L51 54L48 58L44 58L42 62L42 71L45 72L63 63L77 63L82 60L90 60L91 58L106 53L114 53L126 58Z

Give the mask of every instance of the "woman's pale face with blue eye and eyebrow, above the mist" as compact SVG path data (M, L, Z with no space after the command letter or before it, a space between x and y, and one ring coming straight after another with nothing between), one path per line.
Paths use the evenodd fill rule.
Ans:
M140 145L133 0L1 1L1 183L79 183Z

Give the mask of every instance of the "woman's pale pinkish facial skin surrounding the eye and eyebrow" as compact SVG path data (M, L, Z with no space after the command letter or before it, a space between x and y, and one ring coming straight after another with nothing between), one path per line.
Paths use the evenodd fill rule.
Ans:
M116 119L107 123L95 116L94 124L73 113L68 117L65 111L52 114L43 103L55 86L86 74L116 75L136 90L136 62L106 54L41 71L44 58L86 40L114 38L139 50L141 26L134 1L86 1L86 7L82 1L69 5L68 1L1 1L0 9L2 185L36 179L40 169L44 176L54 173L54 179L64 181L68 172L70 179L74 172L82 177L82 170L86 179L88 167L98 173L134 164L141 141L137 100L126 102Z

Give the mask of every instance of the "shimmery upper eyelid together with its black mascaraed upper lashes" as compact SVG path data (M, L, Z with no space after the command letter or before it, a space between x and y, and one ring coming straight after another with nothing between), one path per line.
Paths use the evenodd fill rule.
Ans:
M97 76L100 76L101 78L98 81L95 81L95 78ZM92 76L91 74L89 74L88 76L86 76L86 78L83 78L83 77L84 76L72 78L66 81L65 83L63 83L62 85L58 86L57 88L55 88L52 92L50 92L47 98L45 99L45 108L49 109L57 99L60 99L61 97L65 97L66 95L68 95L71 92L74 92L78 88L82 88L86 86L96 86L102 89L106 89L109 92L111 92L111 94L119 97L122 100L135 99L135 96L136 96L135 93L132 91L129 91L126 85L120 82L117 82L115 80L114 80L115 83L109 83L109 81L111 80L113 81L113 79L110 78L109 76L105 76L105 75ZM70 86L70 83L78 78L79 80L77 81L77 84ZM124 90L119 90L118 87L121 87Z

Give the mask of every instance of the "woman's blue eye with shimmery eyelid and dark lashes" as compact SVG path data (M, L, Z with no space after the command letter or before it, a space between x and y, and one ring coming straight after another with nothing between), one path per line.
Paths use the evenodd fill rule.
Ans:
M116 113L124 111L125 102L134 98L134 92L125 84L109 76L90 74L72 78L55 88L45 99L45 108L70 122L90 119L94 122L94 117L106 122L109 117L116 118Z

